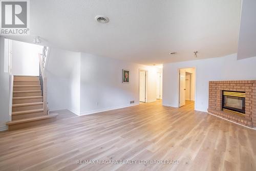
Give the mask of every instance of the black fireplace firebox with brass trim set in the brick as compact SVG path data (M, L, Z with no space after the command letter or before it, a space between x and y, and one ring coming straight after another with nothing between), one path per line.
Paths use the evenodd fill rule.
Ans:
M245 92L222 91L222 111L244 116Z

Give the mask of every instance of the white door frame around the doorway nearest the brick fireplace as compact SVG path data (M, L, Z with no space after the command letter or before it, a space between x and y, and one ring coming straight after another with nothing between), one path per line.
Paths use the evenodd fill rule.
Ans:
M195 106L194 106L194 110L197 110L197 67L182 67L182 68L178 68L177 70L177 79L178 79L178 82L177 82L177 86L178 86L178 92L177 92L177 96L178 96L178 108L180 108L180 69L188 69L188 68L194 68L195 69L195 73L194 73L194 76L195 76Z

